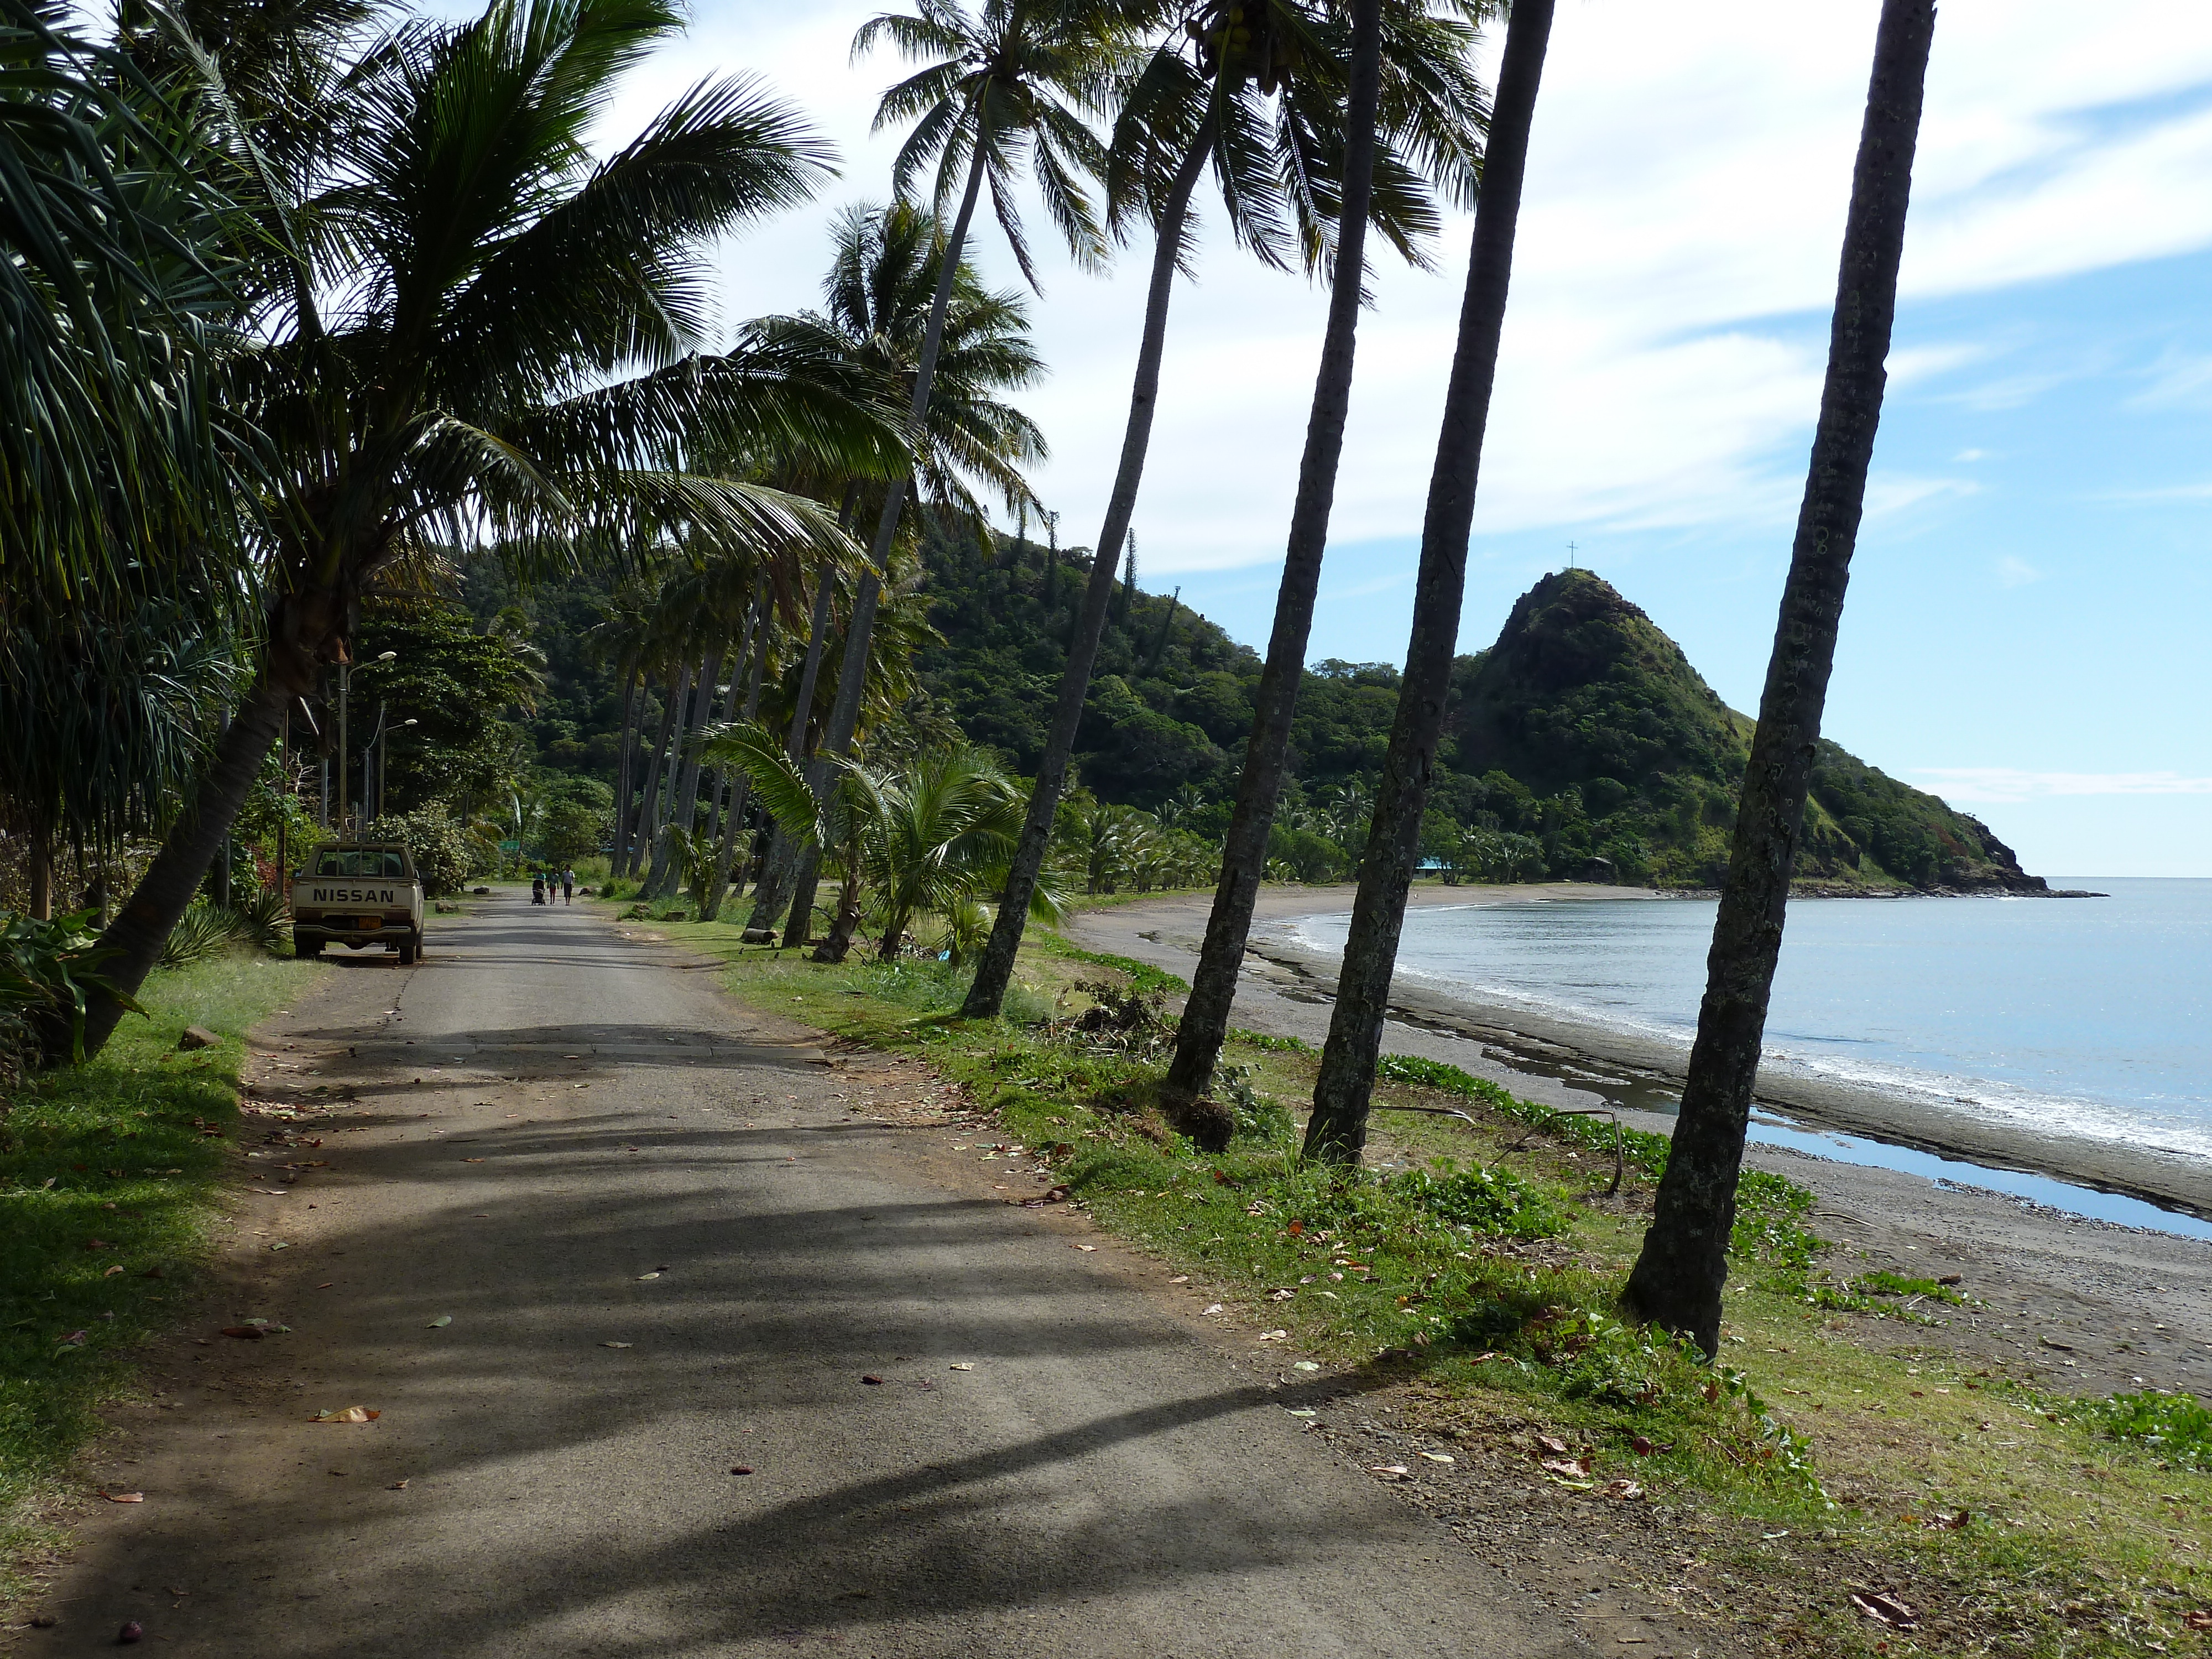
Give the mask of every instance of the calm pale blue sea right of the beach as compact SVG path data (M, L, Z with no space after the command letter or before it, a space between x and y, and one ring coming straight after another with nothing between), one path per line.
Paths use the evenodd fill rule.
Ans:
M2110 898L1792 900L1770 1064L2212 1159L2212 880L2053 887ZM1688 1053L1712 914L1688 898L1416 909L1398 971ZM1347 920L1301 931L1336 949Z

